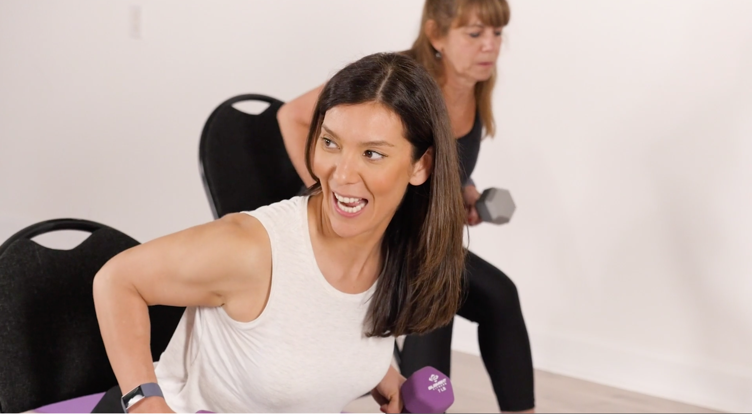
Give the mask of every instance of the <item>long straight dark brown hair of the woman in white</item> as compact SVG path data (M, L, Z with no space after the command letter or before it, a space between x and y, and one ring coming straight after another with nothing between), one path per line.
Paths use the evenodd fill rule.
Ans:
M384 232L384 264L371 298L368 336L419 334L447 325L459 307L465 251L465 209L459 183L456 141L438 84L414 59L398 53L376 53L350 63L323 87L314 109L305 165L311 167L314 146L326 111L338 105L378 102L402 120L405 138L417 162L433 148L433 170L420 186L408 185Z

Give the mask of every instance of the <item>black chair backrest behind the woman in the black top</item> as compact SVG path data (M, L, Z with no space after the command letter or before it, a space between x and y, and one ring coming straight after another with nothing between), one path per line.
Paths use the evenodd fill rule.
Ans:
M257 115L235 109L241 101L269 106ZM302 180L287 156L277 110L284 104L265 95L238 95L220 104L204 125L199 168L214 218L255 210L300 192Z

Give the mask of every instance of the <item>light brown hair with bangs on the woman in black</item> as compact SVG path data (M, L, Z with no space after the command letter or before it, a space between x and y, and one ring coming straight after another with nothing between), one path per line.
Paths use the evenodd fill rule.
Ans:
M444 82L444 65L436 57L436 50L426 35L426 23L436 22L437 35L445 36L451 27L464 26L472 14L478 17L484 25L504 27L509 24L510 11L506 0L426 0L423 5L423 18L420 20L420 32L410 50L404 53L420 62L438 81ZM487 136L496 134L496 122L491 110L491 94L496 83L496 68L488 80L475 83L475 104L481 114L481 121Z

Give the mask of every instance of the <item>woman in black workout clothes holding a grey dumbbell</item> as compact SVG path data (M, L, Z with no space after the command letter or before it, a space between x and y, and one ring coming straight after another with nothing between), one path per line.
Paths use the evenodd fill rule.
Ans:
M480 192L470 180L481 139L496 126L491 95L502 29L509 22L506 0L427 0L420 33L404 53L426 68L441 86L452 134L459 150L460 182L468 225L481 222L475 201ZM306 186L314 180L305 169L305 133L320 87L285 104L277 113L280 131L293 166ZM501 270L468 252L465 301L458 315L478 322L478 343L504 412L535 406L532 355L514 283ZM410 335L402 347L405 376L431 365L449 375L452 325L425 335Z

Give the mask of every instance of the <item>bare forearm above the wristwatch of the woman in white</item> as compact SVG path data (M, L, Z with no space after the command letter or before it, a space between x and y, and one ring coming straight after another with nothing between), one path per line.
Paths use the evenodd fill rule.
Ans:
M108 358L123 394L156 382L147 302L106 265L94 279L94 306Z

